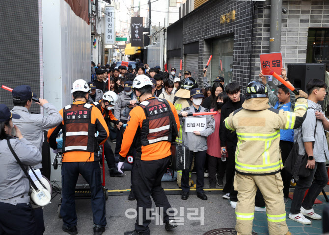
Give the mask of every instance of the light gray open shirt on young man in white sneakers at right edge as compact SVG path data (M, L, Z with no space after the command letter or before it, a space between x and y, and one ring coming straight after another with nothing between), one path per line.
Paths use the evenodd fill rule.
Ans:
M308 103L308 107L312 107L316 111L324 113L322 112L320 104L317 104L309 99L307 100L307 103ZM322 125L322 121L315 118L314 109L307 109L306 118L303 121L302 126L298 129L295 129L294 141L297 140L297 134L298 134L298 145L299 145L300 155L305 154L304 142L315 141L314 149L313 149L313 155L314 155L313 157L315 159L315 162L325 163L326 158L329 160L328 143ZM314 139L315 122L318 125L316 127L315 139Z

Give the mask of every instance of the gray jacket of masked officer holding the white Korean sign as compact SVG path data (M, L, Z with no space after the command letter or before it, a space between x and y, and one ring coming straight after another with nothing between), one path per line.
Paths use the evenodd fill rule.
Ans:
M208 109L200 106L200 112L209 112ZM191 105L190 107L187 107L183 109L182 111L188 112L188 113L195 113L194 106ZM190 151L193 152L199 152L203 150L207 150L207 137L214 133L215 131L215 118L212 115L205 115L205 116L193 116L193 118L206 118L207 126L204 131L200 132L200 136L195 135L192 132L185 132L185 118L180 118L180 122L183 122L181 128L183 133L183 143L189 147Z

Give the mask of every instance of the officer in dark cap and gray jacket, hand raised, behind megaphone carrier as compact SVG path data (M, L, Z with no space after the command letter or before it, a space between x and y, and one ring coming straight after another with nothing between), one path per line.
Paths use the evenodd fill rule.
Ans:
M55 106L48 103L46 99L39 99L39 102L36 102L36 104L44 107L48 113L48 116L30 114L28 110L31 108L32 96L36 97L36 95L32 93L31 88L27 85L15 87L13 89L12 95L13 103L15 106L11 112L21 116L19 120L13 121L14 125L17 125L27 141L30 141L39 149L40 152L42 152L44 131L57 126L63 120L63 118L60 116ZM36 169L41 169L42 171L41 163L33 167ZM50 169L48 171L50 176ZM35 208L34 212L36 214L37 222L36 234L43 234L45 231L45 225L43 221L42 207Z

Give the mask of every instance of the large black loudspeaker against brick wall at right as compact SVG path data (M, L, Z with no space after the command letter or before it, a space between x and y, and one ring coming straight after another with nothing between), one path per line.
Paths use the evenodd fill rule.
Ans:
M287 77L298 90L306 91L307 83L312 79L325 80L326 65L319 63L288 64Z

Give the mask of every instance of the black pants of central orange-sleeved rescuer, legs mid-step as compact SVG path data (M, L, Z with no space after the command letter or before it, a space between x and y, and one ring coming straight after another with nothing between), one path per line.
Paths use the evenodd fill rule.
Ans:
M135 224L135 230L141 234L150 234L148 225L151 223L150 219L146 219L146 213L148 217L151 217L152 200L157 208L161 208L164 223L169 221L169 215L167 210L171 208L164 189L161 186L161 179L164 175L167 166L169 164L169 157L153 160L153 161L141 161L134 160L133 166L133 190L137 200L137 219ZM139 208L142 214L139 213ZM169 211L173 213L173 211ZM139 217L141 217L139 219ZM139 220L140 223L139 223Z

